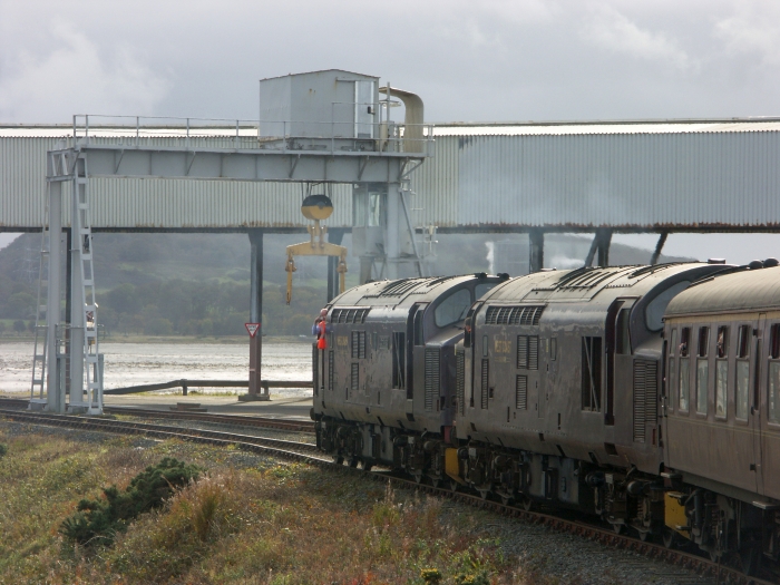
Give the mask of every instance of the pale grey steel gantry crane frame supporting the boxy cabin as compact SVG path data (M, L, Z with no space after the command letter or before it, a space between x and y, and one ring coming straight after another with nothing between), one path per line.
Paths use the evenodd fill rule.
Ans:
M89 136L75 139L70 148L49 150L49 270L46 311L47 397L52 412L70 409L91 415L103 412L103 373L97 337L97 304L92 273L89 225L89 177L147 177L294 183L387 184L384 247L388 276L396 277L401 257L400 232L403 201L401 184L425 158L432 156L432 131L415 152L305 149L282 140L275 148L189 148L99 144ZM69 388L66 403L65 368L60 347L60 262L62 184L71 183L71 310L69 325ZM85 390L87 396L85 398Z

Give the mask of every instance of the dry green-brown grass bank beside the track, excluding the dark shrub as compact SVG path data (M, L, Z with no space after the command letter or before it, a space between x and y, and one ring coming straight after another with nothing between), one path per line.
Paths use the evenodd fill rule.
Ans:
M517 583L486 513L234 448L139 438L76 442L0 426L0 583ZM74 437L75 438L75 437ZM113 546L58 533L82 498L175 457L205 469ZM423 571L428 569L427 573ZM526 576L524 576L525 578ZM537 583L537 581L532 579Z

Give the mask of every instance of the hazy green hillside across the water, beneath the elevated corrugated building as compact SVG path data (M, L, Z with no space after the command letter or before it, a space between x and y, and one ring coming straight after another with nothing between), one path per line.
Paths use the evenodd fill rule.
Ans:
M264 238L263 323L270 335L309 334L325 302L324 259L296 260L293 303L284 303L285 246L303 234ZM350 236L344 245L350 246ZM572 267L589 240L547 237L546 264ZM25 234L0 250L0 334L29 334L35 319L40 234ZM99 322L109 335L241 335L248 320L250 242L245 234L108 234L94 236ZM489 257L490 250L495 253ZM527 270L523 234L438 235L431 274ZM642 264L650 253L615 244L613 264ZM662 261L683 259L663 257ZM349 257L348 286L358 282L358 259ZM409 273L408 275L412 275Z

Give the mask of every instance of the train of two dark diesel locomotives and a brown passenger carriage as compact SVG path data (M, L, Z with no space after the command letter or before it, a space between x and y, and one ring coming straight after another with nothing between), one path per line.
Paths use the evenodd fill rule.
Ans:
M410 279L328 306L337 461L601 516L753 568L780 550L780 269Z

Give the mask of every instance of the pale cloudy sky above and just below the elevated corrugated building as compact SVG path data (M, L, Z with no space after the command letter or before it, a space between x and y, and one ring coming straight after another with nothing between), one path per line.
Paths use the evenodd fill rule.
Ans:
M0 0L0 123L254 119L259 79L331 68L419 94L432 123L780 116L780 2ZM743 261L780 237L681 247Z

